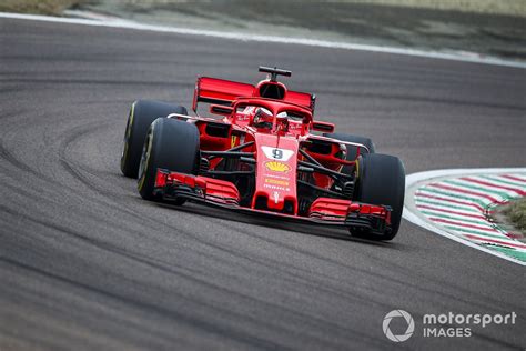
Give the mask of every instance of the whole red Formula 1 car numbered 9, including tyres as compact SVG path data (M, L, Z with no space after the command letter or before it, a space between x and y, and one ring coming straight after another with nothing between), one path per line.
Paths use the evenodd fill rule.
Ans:
M146 200L191 200L225 209L341 225L391 240L399 227L405 174L398 158L375 153L368 138L334 133L313 120L315 97L290 91L260 67L256 86L201 77L193 110L135 101L121 170L139 178ZM198 113L210 104L212 117Z

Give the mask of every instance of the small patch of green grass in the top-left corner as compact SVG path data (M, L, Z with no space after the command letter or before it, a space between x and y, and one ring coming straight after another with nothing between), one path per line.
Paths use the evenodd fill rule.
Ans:
M63 10L84 0L1 0L0 12L60 16Z

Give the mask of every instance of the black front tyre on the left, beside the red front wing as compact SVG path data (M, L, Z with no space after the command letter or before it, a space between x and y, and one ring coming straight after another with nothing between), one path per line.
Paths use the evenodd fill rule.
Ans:
M153 189L159 168L196 174L199 168L199 131L195 124L158 118L151 123L141 156L138 189L145 200L156 200ZM176 204L184 203L178 199Z

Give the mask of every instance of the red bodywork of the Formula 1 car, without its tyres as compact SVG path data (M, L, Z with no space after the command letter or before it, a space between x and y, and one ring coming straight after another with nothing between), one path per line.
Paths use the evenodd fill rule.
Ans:
M312 133L334 130L332 123L314 122L313 94L289 91L271 79L252 86L199 78L195 112L199 102L211 103L210 112L223 117L169 116L196 126L201 170L200 176L193 176L159 169L155 192L164 199L185 198L239 211L368 227L378 232L390 227L388 207L332 195L343 166L354 166L357 160L345 160L345 144L353 143ZM368 152L364 146L353 146L358 150L356 159ZM240 157L232 161L232 156L218 152L237 152ZM235 169L229 169L232 176L222 177L229 162L234 162ZM245 174L250 185L240 185Z

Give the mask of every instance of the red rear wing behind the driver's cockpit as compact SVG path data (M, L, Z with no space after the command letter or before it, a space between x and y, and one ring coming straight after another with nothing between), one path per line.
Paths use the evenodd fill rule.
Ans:
M265 91L264 89L261 89L262 84L279 86L281 91L283 92L282 94L280 94L282 98L279 100L302 106L304 108L311 109L311 111L314 112L314 106L316 100L314 94L286 90L285 86L282 83L264 81L257 87L255 87L247 83L240 83L231 80L209 77L198 78L193 96L192 109L196 111L199 102L230 106L234 100L239 98L267 98L264 96L262 97L260 93L261 91ZM276 97L272 98L276 99Z

